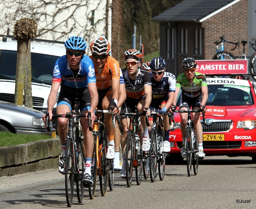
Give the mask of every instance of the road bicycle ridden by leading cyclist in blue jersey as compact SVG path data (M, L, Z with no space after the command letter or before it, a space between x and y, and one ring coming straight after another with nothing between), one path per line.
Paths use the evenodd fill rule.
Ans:
M76 99L74 114L67 112L63 115L53 115L52 117L65 117L68 119L68 132L65 139L66 153L64 163L65 174L65 192L67 206L71 207L73 203L74 185L76 185L76 193L79 203L82 203L84 196L84 187L82 184L85 169L83 139L81 133L81 117L85 115L79 113L79 100ZM49 124L49 113L46 115L47 127Z

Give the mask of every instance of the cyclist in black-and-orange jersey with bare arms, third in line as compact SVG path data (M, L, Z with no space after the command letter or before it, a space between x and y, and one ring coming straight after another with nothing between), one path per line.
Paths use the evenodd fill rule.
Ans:
M135 112L137 109L138 112L145 111L149 116L149 106L151 103L151 77L150 74L140 69L141 66L141 58L142 54L140 51L136 49L129 49L124 53L125 65L126 68L122 70L124 81L125 81L125 90L126 90L126 100L122 105L122 112ZM145 121L145 116L141 116L141 124L143 126L143 144L142 150L148 151L150 148L150 138L148 135L148 126ZM121 138L121 146L123 152L123 167L120 171L120 176L122 178L126 177L126 160L125 160L125 145L127 141L127 131L128 131L128 123L127 117L125 115L122 116L122 125L123 125L123 133Z

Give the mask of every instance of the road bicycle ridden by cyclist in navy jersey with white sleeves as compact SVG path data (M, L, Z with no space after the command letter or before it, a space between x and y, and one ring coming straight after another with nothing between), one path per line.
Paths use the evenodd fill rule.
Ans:
M157 116L157 112L151 112L151 115L153 116L153 124L150 131L151 146L149 149L148 160L150 179L151 182L154 182L158 172L160 180L163 180L166 157L168 157L169 154L161 150L161 147L163 146L163 139L165 137L162 117ZM173 114L165 113L164 115L169 116L169 124L171 125L171 118L173 118Z

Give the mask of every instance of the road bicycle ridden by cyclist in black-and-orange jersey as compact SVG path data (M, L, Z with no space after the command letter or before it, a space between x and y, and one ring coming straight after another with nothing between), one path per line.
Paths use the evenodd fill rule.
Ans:
M142 151L142 132L140 128L140 115L145 113L127 113L120 112L120 115L126 115L130 117L128 131L127 131L127 143L125 149L125 161L126 161L126 183L128 187L131 187L133 168L135 168L136 182L140 185L142 178L142 171L146 171L145 152ZM149 126L148 117L146 115L146 123ZM144 161L144 163L143 163Z

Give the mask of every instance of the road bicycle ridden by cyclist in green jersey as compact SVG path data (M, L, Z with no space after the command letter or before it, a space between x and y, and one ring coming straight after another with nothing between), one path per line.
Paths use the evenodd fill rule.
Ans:
M192 172L192 164L194 174L198 174L198 141L194 132L194 123L193 123L193 112L202 112L203 121L205 122L203 109L181 109L175 110L175 112L179 113L187 113L186 117L186 141L185 141L185 152L186 152L186 164L187 164L187 172L188 176L191 176Z

